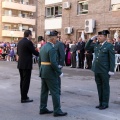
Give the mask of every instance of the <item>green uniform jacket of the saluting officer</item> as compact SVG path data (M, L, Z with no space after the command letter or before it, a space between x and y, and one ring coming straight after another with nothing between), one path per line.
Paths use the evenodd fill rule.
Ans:
M86 43L86 50L94 50L95 59L92 65L92 71L95 73L114 72L115 51L111 43L105 42L102 46L97 42L91 45L92 40Z

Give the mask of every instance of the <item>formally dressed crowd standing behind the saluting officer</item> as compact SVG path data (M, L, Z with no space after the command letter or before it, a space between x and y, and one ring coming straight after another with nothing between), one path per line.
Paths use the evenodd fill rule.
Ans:
M97 39L93 41L93 45L97 42ZM120 54L120 36L117 40L115 38L107 38L107 42L113 44L115 49L115 54ZM80 37L78 41L76 40L65 40L65 65L71 68L81 68L81 69L91 69L94 51L86 50L85 45L87 41L82 40Z

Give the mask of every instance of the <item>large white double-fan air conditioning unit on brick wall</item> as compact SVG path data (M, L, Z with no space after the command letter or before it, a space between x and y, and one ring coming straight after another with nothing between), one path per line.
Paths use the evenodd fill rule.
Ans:
M93 33L94 28L95 28L95 20L86 19L85 20L85 33Z

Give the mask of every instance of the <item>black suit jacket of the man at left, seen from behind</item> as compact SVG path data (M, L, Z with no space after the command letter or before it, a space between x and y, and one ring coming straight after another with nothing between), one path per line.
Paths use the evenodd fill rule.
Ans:
M35 50L33 43L27 38L19 41L17 46L18 69L32 69L32 54L38 56L39 52Z

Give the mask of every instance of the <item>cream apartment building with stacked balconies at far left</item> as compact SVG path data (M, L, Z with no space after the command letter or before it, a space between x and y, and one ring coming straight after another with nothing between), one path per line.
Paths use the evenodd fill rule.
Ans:
M0 41L17 42L24 30L36 36L36 0L0 0Z

